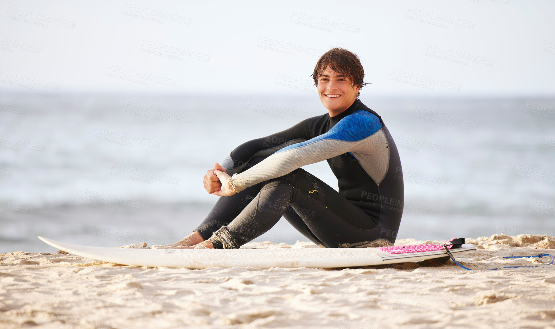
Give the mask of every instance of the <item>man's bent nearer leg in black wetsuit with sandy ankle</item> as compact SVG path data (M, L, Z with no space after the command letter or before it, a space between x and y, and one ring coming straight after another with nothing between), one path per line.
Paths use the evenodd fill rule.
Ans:
M296 215L286 212L288 208ZM372 245L380 240L383 226L377 218L371 218L329 185L299 168L265 183L254 200L209 240L215 248L236 248L270 230L282 215L303 235L324 247ZM390 242L382 241L385 245Z

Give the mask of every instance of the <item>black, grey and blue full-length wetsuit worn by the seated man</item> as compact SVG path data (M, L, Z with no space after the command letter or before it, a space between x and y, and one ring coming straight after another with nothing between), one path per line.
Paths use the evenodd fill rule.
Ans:
M301 166L327 160L339 192ZM233 196L220 197L194 231L215 248L239 248L285 217L321 247L395 242L403 179L395 142L381 117L357 99L335 117L311 117L253 139L223 161Z

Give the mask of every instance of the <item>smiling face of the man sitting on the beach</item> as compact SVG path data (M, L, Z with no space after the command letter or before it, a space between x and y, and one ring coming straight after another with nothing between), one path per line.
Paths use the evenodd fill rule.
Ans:
M359 86L352 86L348 77L338 75L329 66L318 77L320 101L327 109L337 114L355 102L359 89Z

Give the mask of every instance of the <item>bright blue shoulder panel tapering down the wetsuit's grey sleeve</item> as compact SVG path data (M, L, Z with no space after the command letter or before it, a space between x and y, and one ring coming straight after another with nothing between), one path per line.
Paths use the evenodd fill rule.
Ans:
M367 111L356 111L345 118L342 118L330 131L309 139L306 142L292 144L280 149L278 152L287 151L289 149L305 146L310 143L321 141L322 139L338 139L339 141L355 142L360 141L382 127L380 119L374 114Z

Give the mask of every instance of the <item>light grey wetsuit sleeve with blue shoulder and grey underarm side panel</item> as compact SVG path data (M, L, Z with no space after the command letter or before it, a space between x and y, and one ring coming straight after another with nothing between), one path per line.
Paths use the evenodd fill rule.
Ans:
M284 147L255 166L230 178L235 191L240 192L256 183L286 175L306 164L347 152L364 158L361 166L380 183L388 166L387 138L380 129L381 122L374 114L366 111L357 112L341 119L330 131L308 141Z

